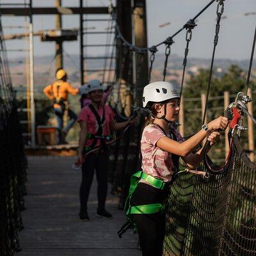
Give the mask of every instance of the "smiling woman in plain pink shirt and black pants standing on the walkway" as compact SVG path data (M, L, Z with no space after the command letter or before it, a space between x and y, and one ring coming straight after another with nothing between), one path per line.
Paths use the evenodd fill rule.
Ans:
M93 147L101 146L98 152L86 156L82 164L82 182L80 187L80 212L79 218L88 221L87 201L92 185L94 170L98 182L97 196L98 209L97 216L111 218L112 215L106 211L105 202L108 192L108 163L109 150L106 142L111 138L113 130L124 129L129 124L134 124L135 120L129 120L116 124L112 109L102 103L103 88L99 80L92 80L88 83L88 97L91 103L81 109L78 122L81 127L79 136L79 161L83 163L83 154Z

